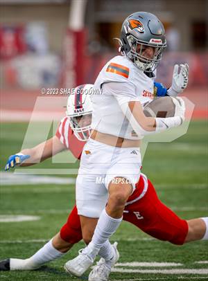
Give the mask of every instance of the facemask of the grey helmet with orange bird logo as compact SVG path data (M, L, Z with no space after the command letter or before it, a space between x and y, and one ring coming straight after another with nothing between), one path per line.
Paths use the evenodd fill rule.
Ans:
M130 51L126 54L130 60L142 71L152 72L156 69L162 60L162 53L166 48L166 44L153 44L142 42L133 35L127 35L126 39L130 45ZM146 47L153 47L154 53L152 57L146 57L142 53Z

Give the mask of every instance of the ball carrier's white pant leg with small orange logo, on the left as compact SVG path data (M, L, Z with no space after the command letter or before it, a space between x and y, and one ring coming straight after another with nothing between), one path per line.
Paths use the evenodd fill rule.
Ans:
M114 147L94 140L85 145L76 179L78 215L100 217L107 203L105 174L112 163L113 152Z

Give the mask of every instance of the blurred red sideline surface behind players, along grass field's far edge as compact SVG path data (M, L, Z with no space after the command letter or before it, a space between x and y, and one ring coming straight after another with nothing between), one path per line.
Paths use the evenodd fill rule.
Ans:
M50 96L51 110L47 105L42 105L41 109L33 112L33 107L38 96L42 96L39 90L37 91L23 91L23 90L2 90L1 98L1 122L28 122L33 113L33 120L60 120L65 114L63 106L57 105L53 108L53 97ZM195 109L193 111L193 119L208 118L208 88L203 89L186 89L181 96L186 96L193 102ZM56 96L57 97L57 96ZM64 97L63 105L66 103L67 97ZM52 107L53 105L53 107ZM53 115L53 116L52 116Z

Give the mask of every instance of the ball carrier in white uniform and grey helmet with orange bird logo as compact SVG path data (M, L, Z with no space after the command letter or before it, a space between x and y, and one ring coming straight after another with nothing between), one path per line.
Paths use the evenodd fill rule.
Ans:
M166 48L161 21L149 12L135 12L123 21L120 43L122 55L105 64L94 84L102 94L92 96L92 134L76 180L78 215L83 239L89 244L64 266L76 276L101 255L101 247L108 268L114 264L116 253L108 238L119 227L125 203L139 181L141 138L184 121L182 99L171 118L146 117L143 111L143 105L153 99L154 71ZM181 71L186 76L188 66Z

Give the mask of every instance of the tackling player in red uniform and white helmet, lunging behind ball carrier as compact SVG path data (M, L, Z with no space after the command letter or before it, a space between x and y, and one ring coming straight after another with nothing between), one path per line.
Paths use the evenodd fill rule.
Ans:
M83 95L80 97L78 91L81 89L88 90L92 87L93 85L91 84L77 87L76 94L70 96L68 100L68 117L66 116L62 119L55 136L45 143L37 145L37 147L24 149L21 153L10 156L6 170L18 163L21 163L21 166L33 165L64 149L70 149L76 158L80 158L85 141L89 137L92 107L89 96ZM83 99L82 102L80 102L80 98ZM80 105L82 110L78 110ZM125 204L123 219L152 237L177 245L198 239L208 239L207 218L186 221L177 217L173 211L159 201L153 184L145 174L141 174L139 182L136 184L135 192ZM26 260L15 258L4 260L0 262L0 270L37 269L46 262L62 257L73 244L76 244L82 238L80 218L76 206L74 206L60 232L37 251L35 255ZM114 248L116 249L116 244ZM106 265L102 259L92 271L90 280L93 280L94 271L100 269L101 266L105 271Z

